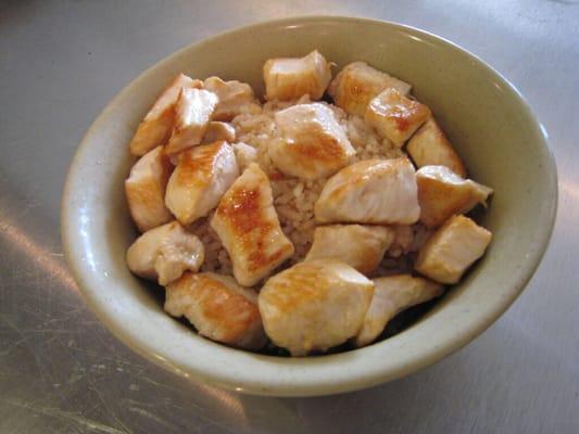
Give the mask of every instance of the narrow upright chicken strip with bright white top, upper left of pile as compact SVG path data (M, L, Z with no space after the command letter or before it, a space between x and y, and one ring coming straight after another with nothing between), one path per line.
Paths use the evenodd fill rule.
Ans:
M207 90L182 89L175 104L175 126L165 152L176 154L201 143L218 101Z

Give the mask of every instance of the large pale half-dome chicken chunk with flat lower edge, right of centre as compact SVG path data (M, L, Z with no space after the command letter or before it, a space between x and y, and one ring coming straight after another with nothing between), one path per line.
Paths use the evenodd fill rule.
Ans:
M314 206L316 221L411 225L420 208L407 158L364 159L333 175Z

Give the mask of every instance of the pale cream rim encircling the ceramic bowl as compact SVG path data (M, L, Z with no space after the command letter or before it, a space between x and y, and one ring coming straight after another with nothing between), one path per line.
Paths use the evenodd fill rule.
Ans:
M550 191L550 202L546 204L542 204L542 213L544 216L544 225L542 225L538 230L533 233L533 238L537 245L539 246L537 250L532 252L532 254L527 258L524 269L521 270L521 277L519 281L515 282L512 288L507 291L506 296L501 298L501 303L496 304L495 309L490 312L490 315L479 320L475 323L469 323L467 328L463 331L462 334L455 334L452 339L449 339L444 342L439 343L439 345L431 346L426 352L423 352L420 354L416 354L412 357L410 357L410 362L399 362L394 366L386 367L383 369L375 369L370 372L357 372L355 374L352 374L349 369L345 369L345 374L341 375L341 378L322 378L316 376L312 372L309 372L309 367L315 366L316 369L318 369L318 366L322 365L332 365L332 363L342 363L343 360L347 360L349 358L349 355L352 354L360 354L364 355L367 354L368 357L376 357L376 354L372 353L373 347L377 347L383 342L391 341L395 339L397 336L393 336L392 339L388 341L383 341L382 343L378 345L373 345L365 348L360 348L353 352L342 353L342 354L336 354L336 355L329 355L329 356L323 356L323 357L306 357L306 358L288 358L288 359L280 359L278 357L273 356L264 356L264 355L255 355L251 353L240 352L234 348L228 348L222 345L216 344L219 346L221 353L224 355L228 355L228 357L243 357L247 361L250 360L248 357L252 357L255 360L261 360L261 362L264 362L266 365L272 365L272 369L277 369L277 375L269 375L267 380L264 380L262 378L261 372L256 372L259 370L244 370L244 371L236 371L234 374L228 372L210 372L207 369L196 369L191 367L190 365L184 363L181 361L176 360L168 360L163 357L160 357L156 354L154 344L151 344L147 342L146 340L138 339L135 336L135 333L131 331L131 327L125 327L122 321L115 320L114 317L111 317L110 312L106 311L105 306L102 305L97 298L93 296L91 290L91 271L86 267L85 264L81 264L80 260L78 260L78 256L76 253L75 247L75 238L77 237L77 231L75 230L75 225L73 224L74 217L75 217L75 207L70 206L70 201L67 200L73 193L73 183L76 178L79 177L79 174L81 173L80 167L80 161L83 154L88 149L91 138L95 135L98 135L98 131L100 129L101 124L105 124L108 122L108 115L109 112L112 111L112 108L125 98L128 93L131 92L131 90L138 88L141 86L141 82L144 81L149 75L153 74L153 72L159 68L161 65L165 64L166 62L169 62L171 60L178 58L186 53L187 51L193 49L194 47L201 47L206 43L212 43L214 40L219 38L226 38L230 37L232 35L236 35L237 33L246 33L246 31L254 31L260 30L262 28L268 28L268 27L275 27L275 26L290 26L290 25L299 25L299 24L307 24L307 23L316 23L316 22L327 22L330 21L332 23L356 23L356 24L368 24L368 25L379 25L379 26L389 26L397 30L402 30L405 33L414 34L415 36L419 37L426 37L430 40L433 40L436 42L439 42L443 46L446 46L449 49L457 50L462 52L462 54L466 55L468 59L470 59L473 62L478 63L480 67L486 68L491 75L494 76L494 78L501 82L501 85L508 89L515 98L519 100L520 107L526 112L526 115L529 119L533 122L533 128L537 130L536 132L539 132L537 135L538 138L541 138L542 141L542 151L544 151L544 164L546 167L546 175L547 179L545 179L545 184L547 187L547 190ZM534 116L532 113L529 103L526 101L526 99L521 95L521 93L518 91L518 89L508 81L502 74L500 74L498 71L495 71L493 67L488 65L484 61L479 59L477 55L470 53L468 50L460 47L458 44L443 38L440 36L437 36L435 34L431 34L426 30L421 30L408 25L403 25L399 23L393 23L389 21L380 21L380 20L372 20L372 18L364 18L364 17L356 17L356 16L342 16L342 15L305 15L305 16L292 16L292 17L285 17L279 20L269 20L269 21L263 21L259 23L254 23L247 26L237 27L221 34L217 34L215 36L204 38L200 41L190 43L174 53L169 54L168 56L162 59L161 61L156 62L149 68L147 68L144 72L142 72L137 78L131 80L123 90L121 90L102 110L102 112L97 116L95 122L91 124L87 132L85 133L84 138L80 141L79 146L77 148L75 155L72 159L68 174L66 176L66 181L64 184L64 191L61 200L61 235L62 235L62 244L63 244L63 251L65 255L66 263L68 265L68 268L72 272L72 276L77 283L80 292L84 295L84 298L91 309L92 312L97 315L97 317L106 326L106 328L115 335L117 339L119 339L124 344L128 345L133 350L140 354L148 360L154 362L155 365L160 365L165 369L168 369L169 371L187 378L187 379L193 379L197 381L201 381L204 383L209 383L211 385L216 385L219 387L228 388L236 392L242 392L248 394L254 394L254 395L269 395L269 396L318 396L318 395L329 395L329 394L336 394L336 393L342 393L342 392L351 392L361 390L364 387L377 385L382 382L391 381L401 376L404 376L406 374L410 374L412 372L418 371L420 369L424 369L430 365L433 365L435 362L441 360L442 358L446 357L448 355L454 353L455 350L460 349L461 347L465 346L468 342L477 337L479 334L481 334L486 329L488 329L517 298L517 296L521 293L521 291L525 289L529 280L532 278L534 271L537 270L542 256L544 255L549 242L551 239L551 234L553 232L556 213L557 213L557 202L558 202L558 186L557 186L557 171L556 171L556 165L555 159L553 157L553 153L551 152L551 149L547 144L547 133L545 128L542 126L542 124L539 122L539 119ZM398 335L400 336L400 335ZM284 366L297 366L301 370L294 371L292 370L288 374L285 373L285 370L279 369L279 362L282 360L284 362L281 365ZM305 362L304 362L305 361ZM355 362L353 360L347 360L348 363ZM277 368L276 368L277 367ZM301 378L300 378L301 372ZM317 371L316 371L317 372ZM295 376L298 375L298 376Z

